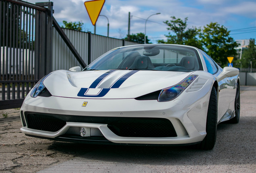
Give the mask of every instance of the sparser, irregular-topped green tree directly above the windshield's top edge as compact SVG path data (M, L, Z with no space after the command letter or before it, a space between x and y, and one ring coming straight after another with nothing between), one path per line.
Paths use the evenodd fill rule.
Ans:
M167 37L167 42L165 42L164 40L158 40L158 43L185 44L203 49L202 44L199 40L201 31L200 28L187 28L187 20L187 17L182 20L180 18L176 18L175 16L171 16L170 21L166 20L165 22L163 22L167 24L167 30L173 31L175 35L171 35L171 32L169 32L169 35L165 35Z

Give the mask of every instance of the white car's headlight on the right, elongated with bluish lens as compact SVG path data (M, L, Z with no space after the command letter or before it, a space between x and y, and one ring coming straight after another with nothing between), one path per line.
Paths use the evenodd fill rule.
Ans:
M166 101L171 101L178 97L187 87L188 85L197 77L198 75L189 75L186 77L184 80L182 80L180 83L162 89L158 101L159 102L166 102Z

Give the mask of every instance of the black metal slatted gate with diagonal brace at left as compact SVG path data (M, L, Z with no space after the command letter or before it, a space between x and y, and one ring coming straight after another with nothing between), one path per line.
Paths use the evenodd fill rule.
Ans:
M24 98L44 75L52 71L53 2L31 4L0 0L0 110L21 107ZM45 6L47 8L45 8ZM72 44L74 56L83 67Z

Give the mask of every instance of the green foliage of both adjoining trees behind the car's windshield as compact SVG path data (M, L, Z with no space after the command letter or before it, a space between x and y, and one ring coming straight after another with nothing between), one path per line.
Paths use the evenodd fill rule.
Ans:
M204 50L213 60L220 63L221 66L227 66L227 57L235 56L237 43L229 36L229 31L224 26L220 26L217 22L206 25L201 28L188 28L187 20L171 17L170 21L163 23L167 24L167 30L174 32L174 35L165 35L167 42L158 40L158 43L166 44L184 44L194 46Z

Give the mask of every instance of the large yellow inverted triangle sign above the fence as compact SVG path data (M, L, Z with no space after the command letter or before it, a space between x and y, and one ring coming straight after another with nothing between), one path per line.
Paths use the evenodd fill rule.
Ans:
M85 2L85 8L93 25L96 24L105 0L93 0Z

